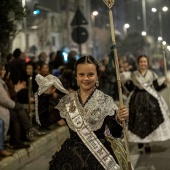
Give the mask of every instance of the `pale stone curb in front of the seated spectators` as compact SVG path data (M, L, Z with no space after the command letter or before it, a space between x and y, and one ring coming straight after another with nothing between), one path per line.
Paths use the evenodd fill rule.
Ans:
M66 126L58 127L49 134L32 142L28 149L17 150L13 156L3 158L0 161L0 170L20 169L44 154L47 150L51 148L56 148L57 150L68 137L68 128Z

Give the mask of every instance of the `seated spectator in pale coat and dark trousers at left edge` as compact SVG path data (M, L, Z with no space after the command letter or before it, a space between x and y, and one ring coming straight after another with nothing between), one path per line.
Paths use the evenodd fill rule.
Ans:
M20 105L16 100L17 92L25 88L25 82L18 82L13 85L11 81L8 81L10 89L8 89L7 84L3 80L5 76L4 64L0 62L0 115L5 123L4 136L6 136L7 131L10 126L10 144L14 149L26 148L30 145L24 143L24 141L30 140L30 136L33 134L41 135L41 133L32 127L30 124L27 113L25 112L22 105ZM9 122L10 120L10 122ZM10 123L10 125L9 125ZM21 133L21 131L23 133ZM23 135L21 135L23 134Z

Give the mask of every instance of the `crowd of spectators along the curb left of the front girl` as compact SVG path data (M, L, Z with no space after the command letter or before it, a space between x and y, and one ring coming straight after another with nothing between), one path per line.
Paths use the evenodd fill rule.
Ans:
M64 62L62 51L51 52L49 56L41 52L38 60L29 57L19 48L0 61L0 156L11 156L10 149L30 147L34 136L45 134L48 125L38 126L35 121L35 96L38 84L36 75L46 77L49 74L59 77L69 91L77 89L73 68L76 52L70 51L68 62ZM50 98L53 108L62 97L54 93ZM33 114L33 115L31 115ZM56 122L64 125L64 121ZM35 125L35 126L34 126ZM10 148L8 150L8 148Z

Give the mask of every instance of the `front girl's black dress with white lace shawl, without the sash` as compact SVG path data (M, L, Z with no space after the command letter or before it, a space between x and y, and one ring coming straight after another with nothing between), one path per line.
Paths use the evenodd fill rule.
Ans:
M39 97L39 118L42 124L50 125L53 122L64 118L70 132L70 137L63 143L61 149L57 151L50 161L50 170L103 170L104 168L94 157L94 155L85 146L82 140L75 132L74 125L70 120L66 109L66 104L73 104L77 100L79 109L82 111L81 116L90 126L91 130L98 137L100 142L107 148L110 154L118 163L110 143L105 138L105 127L110 130L113 137L119 138L122 135L122 127L115 119L117 106L113 99L99 90L95 90L82 104L77 92L65 95L57 107L48 113L48 95ZM60 113L60 115L59 115Z

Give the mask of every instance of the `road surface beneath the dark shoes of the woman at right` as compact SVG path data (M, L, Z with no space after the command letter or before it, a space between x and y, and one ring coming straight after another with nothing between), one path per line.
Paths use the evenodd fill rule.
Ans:
M131 162L135 170L170 170L170 140L151 143L150 153L139 153L137 144L130 144Z

